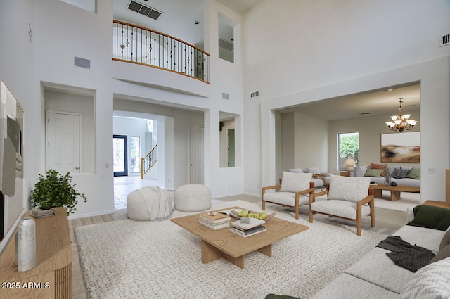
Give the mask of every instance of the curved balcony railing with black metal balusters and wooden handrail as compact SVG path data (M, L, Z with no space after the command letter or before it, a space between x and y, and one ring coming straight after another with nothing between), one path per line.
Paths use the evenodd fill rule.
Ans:
M162 68L210 82L210 54L161 32L114 21L113 60Z

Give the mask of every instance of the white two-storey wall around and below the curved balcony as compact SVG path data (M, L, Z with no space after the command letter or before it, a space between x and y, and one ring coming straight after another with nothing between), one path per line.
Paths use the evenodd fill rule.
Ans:
M36 1L37 3L37 1ZM235 63L219 60L217 44L217 15L226 15L236 22ZM98 0L96 13L84 11L59 0L42 0L32 11L34 21L34 64L33 89L30 94L36 103L34 112L38 117L33 121L32 135L38 146L32 153L35 167L30 176L34 181L44 170L44 92L47 84L66 85L93 90L95 111L95 172L74 176L80 192L88 197L87 203L79 203L78 211L72 217L84 217L113 212L113 105L114 98L124 101L153 103L164 109L177 107L197 111L193 120L191 114L183 110L165 118L162 128L165 132L164 156L172 156L166 161L165 169L158 169L166 178L165 186L174 189L188 183L188 163L184 151L188 146L187 125L205 127L205 184L212 189L213 196L225 196L243 192L243 170L236 167L225 171L219 169L219 111L243 115L242 108L242 37L240 15L225 8L216 1L205 6L205 49L210 51L211 84L196 79L166 72L142 65L112 61L111 45L113 34L113 2ZM82 20L82 21L81 21ZM11 53L11 56L12 53ZM74 57L91 61L91 68L73 65ZM222 92L230 94L229 100L221 99ZM131 102L130 102L131 103ZM129 103L129 104L130 104ZM133 104L132 102L131 104ZM127 106L127 104L125 104ZM127 106L128 110L137 108ZM202 115L199 119L198 115ZM172 117L172 118L170 118ZM178 120L177 120L178 118ZM241 126L241 121L238 125ZM242 130L242 129L241 129ZM169 131L169 132L168 132ZM170 135L172 134L172 135ZM238 153L243 153L243 135L236 142ZM159 139L159 138L158 138ZM172 144L174 147L168 147ZM181 144L181 146L178 146ZM167 158L167 157L166 157ZM240 158L242 160L242 158ZM227 184L224 185L224 182ZM224 188L224 186L226 188Z

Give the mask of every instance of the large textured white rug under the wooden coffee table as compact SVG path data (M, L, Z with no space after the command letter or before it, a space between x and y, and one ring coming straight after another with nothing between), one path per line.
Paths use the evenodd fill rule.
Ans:
M260 205L231 201L213 209ZM270 212L270 210L269 210ZM172 217L191 213L175 211ZM309 298L386 236L314 220L277 217L310 227L275 243L272 257L245 256L245 269L226 260L200 261L200 239L170 220L120 220L75 228L89 298Z

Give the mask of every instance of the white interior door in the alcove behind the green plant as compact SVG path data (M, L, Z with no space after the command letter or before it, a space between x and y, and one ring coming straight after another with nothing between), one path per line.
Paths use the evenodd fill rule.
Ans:
M49 169L62 174L79 173L81 115L47 113L47 161Z

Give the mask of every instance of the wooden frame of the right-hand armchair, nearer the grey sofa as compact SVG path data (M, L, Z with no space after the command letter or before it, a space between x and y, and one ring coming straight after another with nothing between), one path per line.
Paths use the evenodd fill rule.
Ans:
M327 213L323 213L323 212L316 212L316 211L311 210L311 205L312 205L312 203L314 203L314 201L316 201L316 197L328 194L329 189L330 189L329 185L327 184L325 191L321 191L319 193L311 193L311 194L309 194L309 222L310 223L312 223L312 215L313 215L313 213L318 213L318 214L328 215L330 217L334 216L334 217L339 217L339 218L346 219L346 220L356 221L356 234L358 236L361 236L362 205L365 205L366 203L368 203L369 207L371 208L371 212L370 212L370 214L368 214L369 216L371 216L371 227L375 227L375 197L373 196L373 189L369 188L368 189L368 196L366 196L365 198L361 199L361 201L356 202L356 219L340 217L338 215L332 215L332 214L327 214Z

